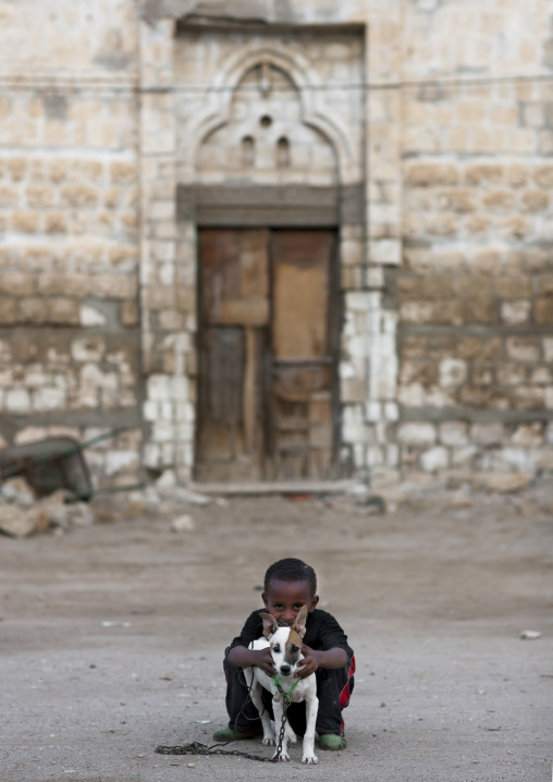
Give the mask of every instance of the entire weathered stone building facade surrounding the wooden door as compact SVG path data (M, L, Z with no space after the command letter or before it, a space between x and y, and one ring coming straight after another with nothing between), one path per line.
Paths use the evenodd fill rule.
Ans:
M140 464L189 480L196 225L176 190L244 174L259 129L216 120L269 46L312 100L292 166L256 136L250 181L320 164L365 194L341 232L354 472L378 488L552 469L548 0L229 0L220 15L214 0L1 4L0 444L123 424L90 452L96 480ZM183 46L180 25L199 41L207 19L232 35Z

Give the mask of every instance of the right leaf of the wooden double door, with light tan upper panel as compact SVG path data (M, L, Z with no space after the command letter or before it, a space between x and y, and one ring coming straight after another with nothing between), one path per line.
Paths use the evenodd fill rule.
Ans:
M337 291L331 231L272 237L273 477L334 477Z

